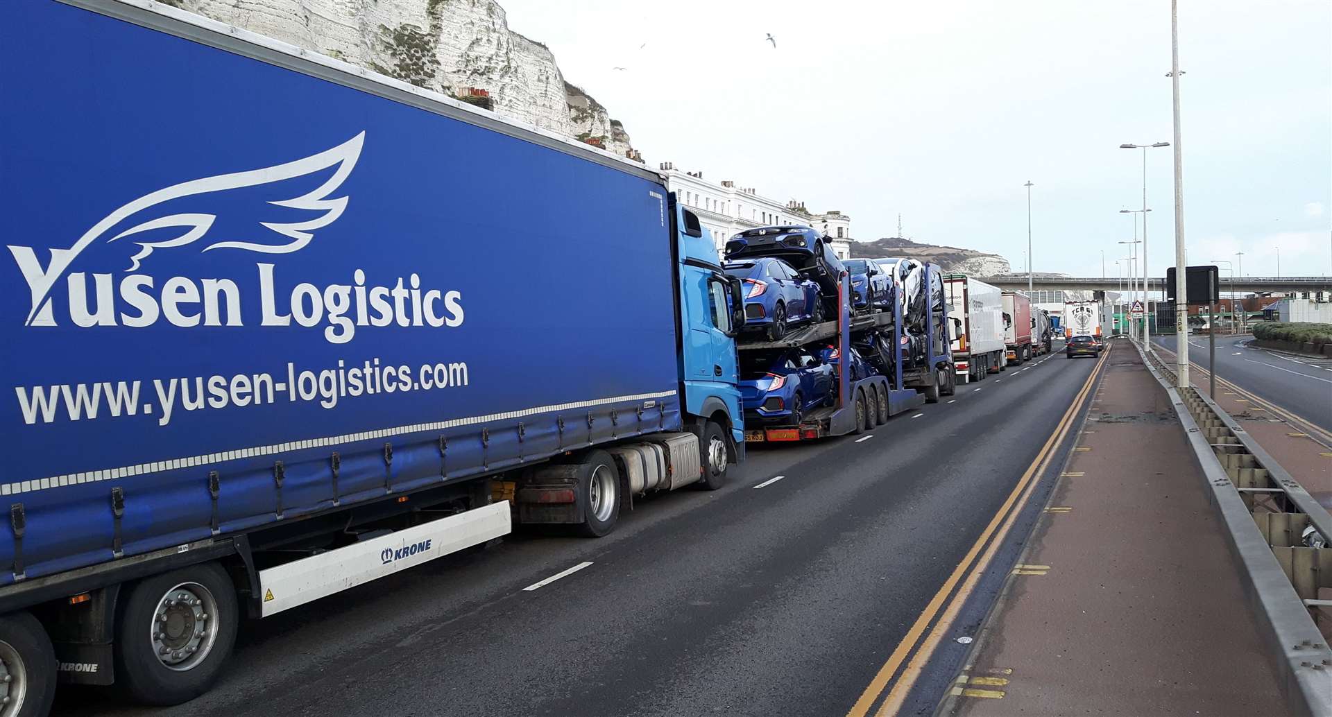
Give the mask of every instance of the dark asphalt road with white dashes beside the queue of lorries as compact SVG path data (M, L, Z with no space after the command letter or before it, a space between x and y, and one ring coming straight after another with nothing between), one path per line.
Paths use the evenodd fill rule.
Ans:
M599 540L510 536L248 623L193 702L65 689L55 714L844 714L1095 364L1052 354L864 440L751 450Z

